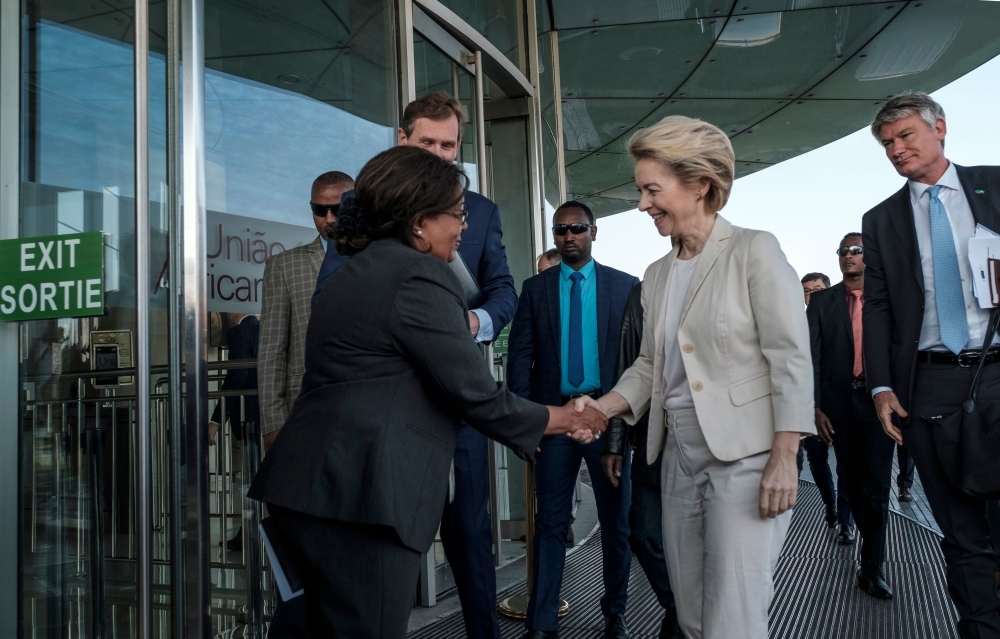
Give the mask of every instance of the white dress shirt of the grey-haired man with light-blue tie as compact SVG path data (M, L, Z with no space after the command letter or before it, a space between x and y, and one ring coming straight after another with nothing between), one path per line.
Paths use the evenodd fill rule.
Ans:
M920 249L920 269L924 275L924 321L920 327L921 351L948 351L941 342L941 328L938 325L937 305L934 297L934 253L931 249L930 193L932 185L909 180L910 204L913 207L913 222L917 229L917 246ZM969 321L969 342L966 349L978 351L983 347L986 326L990 321L988 309L979 308L979 301L972 292L972 267L969 265L969 240L976 233L976 220L972 208L965 197L962 183L954 164L948 165L938 180L941 190L938 199L944 204L951 222L951 233L955 238L955 254L958 256L958 271L962 276L962 294L965 297L965 315ZM998 229L991 229L998 230ZM996 340L994 340L994 343Z

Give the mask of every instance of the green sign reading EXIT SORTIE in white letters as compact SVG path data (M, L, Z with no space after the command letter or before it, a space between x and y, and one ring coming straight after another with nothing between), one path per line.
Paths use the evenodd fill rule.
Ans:
M102 314L102 233L0 240L0 321Z

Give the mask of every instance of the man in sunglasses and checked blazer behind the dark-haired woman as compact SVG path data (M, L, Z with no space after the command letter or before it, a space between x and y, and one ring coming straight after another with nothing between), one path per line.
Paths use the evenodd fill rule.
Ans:
M340 198L353 188L354 180L340 171L317 177L309 206L319 236L309 244L272 255L264 265L257 370L265 449L274 442L302 387L310 299L327 241L333 238ZM329 249L335 251L336 246Z

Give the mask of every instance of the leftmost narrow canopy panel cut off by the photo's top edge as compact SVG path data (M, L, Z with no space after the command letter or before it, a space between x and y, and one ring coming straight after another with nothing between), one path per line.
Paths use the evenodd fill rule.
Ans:
M733 3L734 0L552 0L552 9L554 28L575 29L726 16Z

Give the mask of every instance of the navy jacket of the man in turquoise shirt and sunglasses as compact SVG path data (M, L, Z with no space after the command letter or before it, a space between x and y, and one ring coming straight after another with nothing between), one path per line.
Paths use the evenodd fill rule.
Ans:
M601 392L615 384L618 339L625 302L639 278L594 263L597 277L597 341ZM559 321L559 267L528 278L510 327L507 386L521 397L557 406L562 394L562 327Z

